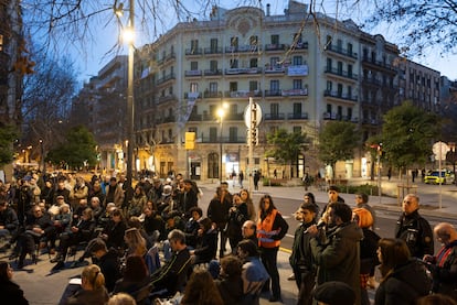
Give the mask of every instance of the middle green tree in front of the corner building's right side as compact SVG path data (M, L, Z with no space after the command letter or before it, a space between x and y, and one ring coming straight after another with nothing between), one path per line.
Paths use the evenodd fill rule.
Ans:
M355 124L344 121L331 121L319 133L319 159L333 168L338 161L354 157L360 137Z

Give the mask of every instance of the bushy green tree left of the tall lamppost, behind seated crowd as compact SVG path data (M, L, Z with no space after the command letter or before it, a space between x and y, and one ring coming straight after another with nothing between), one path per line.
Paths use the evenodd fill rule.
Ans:
M96 145L94 135L85 127L74 127L65 141L49 152L46 161L56 165L67 164L73 168L79 168L84 163L94 166L97 162Z

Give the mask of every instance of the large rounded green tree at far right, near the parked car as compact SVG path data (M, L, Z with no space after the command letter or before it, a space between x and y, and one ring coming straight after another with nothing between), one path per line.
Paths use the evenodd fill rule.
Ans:
M411 101L392 108L385 113L382 127L386 160L403 170L427 162L439 131L439 117L415 107Z

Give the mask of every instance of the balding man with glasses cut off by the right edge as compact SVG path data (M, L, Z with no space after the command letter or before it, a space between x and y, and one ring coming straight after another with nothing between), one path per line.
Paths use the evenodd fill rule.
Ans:
M432 273L432 292L445 294L457 302L457 230L448 222L435 226L434 233L442 243L436 255L424 255Z

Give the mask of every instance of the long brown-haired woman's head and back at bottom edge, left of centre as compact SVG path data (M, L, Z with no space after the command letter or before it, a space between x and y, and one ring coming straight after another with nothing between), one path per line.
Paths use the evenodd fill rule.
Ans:
M185 285L181 305L223 305L221 294L210 272L195 269Z

